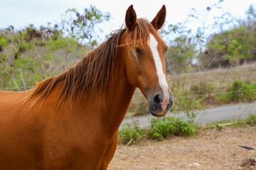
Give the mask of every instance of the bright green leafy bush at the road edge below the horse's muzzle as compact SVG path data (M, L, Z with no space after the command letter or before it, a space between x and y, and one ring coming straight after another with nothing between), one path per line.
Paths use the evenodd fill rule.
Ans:
M164 117L151 120L149 137L155 140L164 140L171 135L191 136L196 135L196 133L197 128L193 123L188 123L183 118Z

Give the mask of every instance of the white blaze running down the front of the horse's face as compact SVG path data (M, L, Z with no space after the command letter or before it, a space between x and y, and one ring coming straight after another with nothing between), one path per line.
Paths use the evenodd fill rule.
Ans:
M168 94L168 84L166 82L166 78L164 76L163 67L161 64L161 59L159 55L159 51L157 50L158 42L156 38L154 38L154 35L149 34L149 47L151 49L154 63L156 66L156 74L159 79L159 85L161 86L161 89L164 94L164 101L161 103L161 107L163 111L166 110L167 105L169 104L169 94Z

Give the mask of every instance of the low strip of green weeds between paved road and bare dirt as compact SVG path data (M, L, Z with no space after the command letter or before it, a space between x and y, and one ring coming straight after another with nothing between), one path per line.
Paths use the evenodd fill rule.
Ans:
M241 120L223 120L216 123L210 123L204 128L215 128L223 130L225 127L245 127L246 125L256 125L256 115L250 115L249 118ZM164 117L153 118L149 128L139 128L137 123L132 125L126 123L119 130L119 144L134 145L142 140L164 140L168 137L181 136L189 137L197 135L198 130L203 130L194 123L190 123L183 118Z

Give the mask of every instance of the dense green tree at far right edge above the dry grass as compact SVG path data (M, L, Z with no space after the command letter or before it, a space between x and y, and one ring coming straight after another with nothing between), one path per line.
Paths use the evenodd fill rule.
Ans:
M208 67L237 66L256 60L256 10L250 6L247 18L238 26L212 35L201 60Z

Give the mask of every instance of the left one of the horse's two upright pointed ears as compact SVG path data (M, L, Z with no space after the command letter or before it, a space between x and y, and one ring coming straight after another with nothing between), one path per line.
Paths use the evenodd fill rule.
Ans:
M133 6L129 6L127 9L127 13L125 15L125 24L128 28L128 30L134 30L137 22L137 15L136 12L134 11Z

